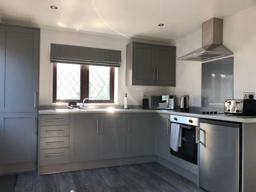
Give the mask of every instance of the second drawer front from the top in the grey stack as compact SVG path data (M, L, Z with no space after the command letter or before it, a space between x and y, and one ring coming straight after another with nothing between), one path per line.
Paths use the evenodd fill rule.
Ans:
M40 137L69 136L69 125L40 126Z

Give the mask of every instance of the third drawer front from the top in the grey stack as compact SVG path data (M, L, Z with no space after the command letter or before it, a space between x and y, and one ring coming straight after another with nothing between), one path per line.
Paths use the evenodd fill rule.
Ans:
M69 147L69 136L40 138L40 149L60 147Z

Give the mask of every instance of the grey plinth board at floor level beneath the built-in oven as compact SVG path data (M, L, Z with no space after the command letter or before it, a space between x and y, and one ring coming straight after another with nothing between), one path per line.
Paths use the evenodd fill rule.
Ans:
M178 173L179 175L182 175L183 177L185 177L185 178L189 179L190 181L193 181L194 183L197 184L197 175L196 174L191 173L188 170L186 170L180 166L177 166L173 163L170 163L169 161L166 161L166 160L162 159L161 157L157 157L156 162L173 170L174 172Z

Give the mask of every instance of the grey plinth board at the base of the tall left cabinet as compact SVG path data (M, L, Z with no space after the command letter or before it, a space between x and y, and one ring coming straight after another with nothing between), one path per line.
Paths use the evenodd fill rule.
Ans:
M0 165L0 175L19 173L19 172L30 172L36 170L37 162L26 162L26 163L12 163Z

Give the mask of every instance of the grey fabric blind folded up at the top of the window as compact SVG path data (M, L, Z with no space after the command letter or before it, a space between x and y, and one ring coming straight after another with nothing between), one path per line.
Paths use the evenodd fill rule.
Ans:
M51 44L51 62L120 67L121 51Z

